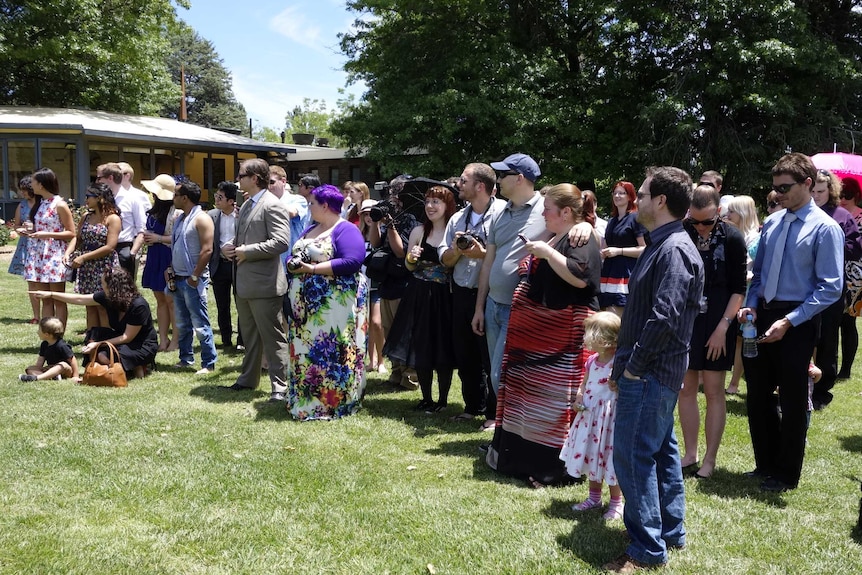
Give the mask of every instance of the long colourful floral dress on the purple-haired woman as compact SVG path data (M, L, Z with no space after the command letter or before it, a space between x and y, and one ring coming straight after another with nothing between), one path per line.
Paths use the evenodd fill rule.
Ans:
M333 258L330 235L300 238L293 254ZM287 409L299 420L355 413L365 390L366 284L359 274L288 275L290 368Z

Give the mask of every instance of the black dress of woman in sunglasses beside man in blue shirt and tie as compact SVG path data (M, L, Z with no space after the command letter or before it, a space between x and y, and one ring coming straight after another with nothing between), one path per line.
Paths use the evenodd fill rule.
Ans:
M697 245L697 231L686 224L686 231ZM708 250L698 250L703 259L706 275L703 295L706 310L694 320L691 332L691 349L688 352L688 368L700 371L727 371L733 367L736 352L736 336L739 326L735 318L727 328L726 353L715 360L706 358L706 342L719 322L725 321L724 310L733 294L745 295L746 255L745 238L735 227L718 222L713 229Z

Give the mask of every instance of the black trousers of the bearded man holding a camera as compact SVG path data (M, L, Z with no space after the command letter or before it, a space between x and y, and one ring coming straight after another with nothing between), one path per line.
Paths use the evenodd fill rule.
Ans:
M455 365L461 378L461 397L464 412L485 414L494 419L497 401L488 381L491 373L491 356L484 336L473 333L470 322L476 311L478 290L452 284L452 345L455 348ZM489 397L490 393L490 397Z

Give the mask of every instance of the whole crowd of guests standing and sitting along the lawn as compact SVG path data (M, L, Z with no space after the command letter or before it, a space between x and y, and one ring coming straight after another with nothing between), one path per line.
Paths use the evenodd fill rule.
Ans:
M99 166L77 223L53 172L20 182L10 272L27 280L43 340L22 380L78 376L63 340L70 303L87 306L82 351L97 361L110 342L132 375L174 349L176 369L212 373L212 283L222 349L244 353L229 391L266 373L270 401L294 418L333 419L360 408L370 370L421 390L415 409L434 415L449 410L457 370L464 409L449 419L482 420L492 469L532 488L587 478L576 512L602 507L608 484L603 517L622 519L631 540L612 571L663 565L685 546L683 477L715 472L726 395L743 373L746 476L764 491L796 488L810 411L849 377L858 344L845 274L859 275L862 192L798 153L772 169L762 227L751 197L722 195L720 174L694 183L672 167L650 168L639 188L615 182L605 221L592 191L537 189L541 169L520 153L427 181L412 207L411 176L383 186L380 202L362 182L339 189L313 174L294 193L262 159L219 184L209 213L194 182L161 174L142 182L150 198L133 177ZM135 282L144 246L158 329ZM747 321L754 354L741 353Z

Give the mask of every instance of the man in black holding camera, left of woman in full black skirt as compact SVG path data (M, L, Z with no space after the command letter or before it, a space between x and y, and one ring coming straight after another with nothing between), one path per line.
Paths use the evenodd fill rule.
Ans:
M386 275L381 279L378 288L384 337L389 335L392 320L395 318L395 312L398 310L398 304L410 278L410 272L404 267L404 257L407 255L405 246L410 238L410 232L419 225L419 222L413 214L403 211L398 194L404 189L405 182L411 179L413 177L407 175L394 178L389 183L388 197L374 206L371 213L371 219L377 222L377 225L369 229L368 241L372 248L381 248L381 251L388 252L389 259L393 261L393 265L388 266ZM416 371L396 361L392 362L389 383L407 389L419 387Z

